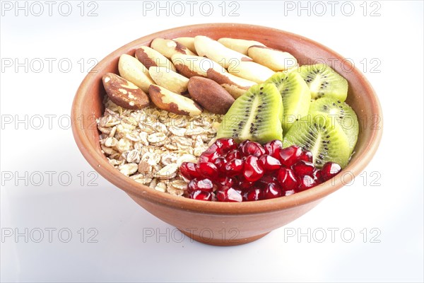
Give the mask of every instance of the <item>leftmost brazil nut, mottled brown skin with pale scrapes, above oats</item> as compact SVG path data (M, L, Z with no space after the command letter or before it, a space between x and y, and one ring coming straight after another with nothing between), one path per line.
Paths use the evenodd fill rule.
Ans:
M145 108L149 105L146 93L131 81L113 73L105 74L102 81L107 96L116 105L131 110Z

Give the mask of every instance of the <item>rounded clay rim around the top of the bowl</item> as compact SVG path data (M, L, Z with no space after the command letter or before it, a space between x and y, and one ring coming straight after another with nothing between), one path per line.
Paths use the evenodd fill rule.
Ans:
M116 59L121 54L127 53L131 50L134 50L134 47L141 46L140 42L151 42L155 37L163 37L167 33L181 33L191 31L192 29L205 29L205 28L252 28L255 30L268 30L273 33L285 34L289 37L296 37L298 40L308 42L310 45L314 45L319 49L322 49L326 52L329 52L338 59L344 59L340 54L334 52L329 47L326 47L314 40L310 40L307 37L302 37L294 33L289 33L284 30L278 30L275 28L264 27L261 25L249 25L249 24L239 24L239 23L206 23L206 24L197 24L197 25L185 25L182 27L171 28L168 30L162 30L158 33L153 33L151 35L146 35L140 37L137 40L129 42L128 44L120 47L114 52L110 53L102 59L96 66L95 69L102 70L107 67L108 64L113 59ZM354 68L353 72L355 76L358 77L360 83L367 89L367 93L370 93L370 103L372 103L372 111L374 115L379 115L382 117L382 110L379 105L379 100L377 95L367 81L365 76ZM76 92L76 96L73 100L73 105L71 109L71 120L76 121L78 117L83 117L81 112L81 104L83 103L83 96L89 91L88 86L93 83L93 79L97 76L97 73L88 74ZM370 134L370 139L365 141L365 149L361 156L356 156L353 161L348 163L348 166L343 169L342 172L350 171L354 176L357 176L365 166L370 162L372 156L374 156L375 151L379 146L379 141L382 138L382 127L378 130L372 130ZM257 202L204 202L199 200L192 200L186 197L177 197L174 195L167 194L165 192L158 192L152 190L146 185L135 182L131 178L126 177L117 169L112 167L108 162L105 156L98 150L91 146L90 139L84 134L84 129L81 127L76 127L76 123L72 123L72 131L76 144L80 149L83 156L86 158L88 163L96 170L103 178L110 181L110 183L116 185L120 189L127 192L129 195L141 197L148 202L153 202L158 205L163 205L166 207L173 207L174 209L187 210L192 212L197 212L201 214L260 214L265 212L275 212L278 210L289 209L292 207L297 207L302 204L307 204L310 202L317 201L326 197L326 195L335 192L339 188L343 187L346 184L343 184L341 178L333 178L331 180L322 183L316 187L312 187L309 190L303 192L298 192L293 195L286 197L278 197L271 200L260 200Z

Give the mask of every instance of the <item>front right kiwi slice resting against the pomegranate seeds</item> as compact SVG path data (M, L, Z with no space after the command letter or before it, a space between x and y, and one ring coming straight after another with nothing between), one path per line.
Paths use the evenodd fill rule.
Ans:
M344 168L351 156L348 137L328 115L307 115L296 121L285 134L283 147L293 144L312 152L318 168L328 161Z

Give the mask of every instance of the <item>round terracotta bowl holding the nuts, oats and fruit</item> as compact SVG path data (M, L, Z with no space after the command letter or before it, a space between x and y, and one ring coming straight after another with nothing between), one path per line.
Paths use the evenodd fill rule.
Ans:
M259 202L203 202L168 195L136 183L113 168L100 151L95 118L102 115L105 91L102 75L117 73L121 54L134 55L136 47L150 45L155 37L175 38L207 35L214 39L234 37L263 42L269 47L290 52L300 64L326 62L349 83L347 103L360 122L355 155L349 165L332 180L288 197ZM345 64L346 63L346 64ZM216 23L189 25L146 35L112 52L102 59L79 86L72 105L73 136L83 156L100 175L124 190L135 202L159 219L177 227L202 243L235 246L265 236L309 212L326 196L348 183L370 162L382 137L382 110L375 91L358 69L324 45L300 35L257 25ZM140 225L143 225L142 223Z

